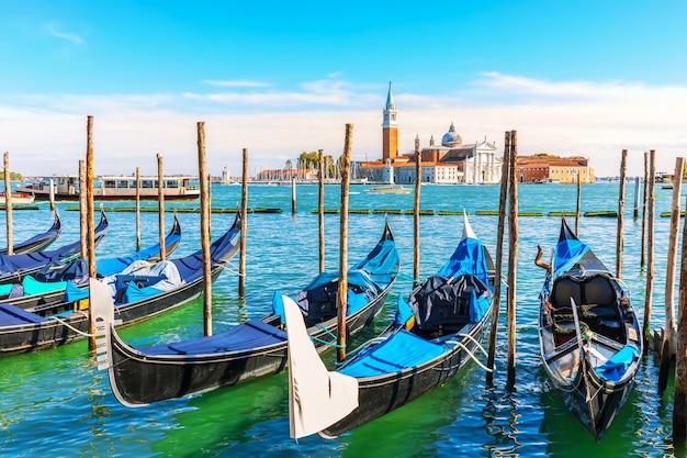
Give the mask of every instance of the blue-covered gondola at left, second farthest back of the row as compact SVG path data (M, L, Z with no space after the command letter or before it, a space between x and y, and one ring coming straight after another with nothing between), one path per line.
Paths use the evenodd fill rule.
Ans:
M100 222L94 231L95 245L108 234L108 217L100 212ZM80 242L64 245L57 249L41 253L24 253L21 255L0 255L0 284L18 283L25 276L41 270L48 262L68 259L76 256L81 249Z

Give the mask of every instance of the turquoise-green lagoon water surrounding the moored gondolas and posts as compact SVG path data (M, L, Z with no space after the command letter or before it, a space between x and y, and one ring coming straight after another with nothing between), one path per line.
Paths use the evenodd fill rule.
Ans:
M618 183L583 186L582 211L617 210ZM413 194L367 194L352 186L350 209L412 210ZM237 295L238 256L213 286L213 328L221 332L269 310L275 289L294 293L318 268L317 186L297 188L297 213L291 214L290 186L250 186L249 208L281 208L282 213L248 214L247 297ZM339 187L326 187L326 208L339 205ZM664 279L668 247L671 192L656 189L655 282L652 328L663 323ZM420 208L471 214L477 236L495 253L496 216L475 216L477 210L498 209L495 186L424 186ZM213 186L213 208L236 208L240 187ZM634 185L626 189L622 279L643 316L645 272L640 269L641 221L632 220ZM47 204L40 211L13 213L14 239L23 241L47 228ZM59 203L64 233L58 244L78 239L79 214ZM106 206L112 206L108 203ZM129 204L120 204L131 206ZM147 203L146 205L154 205ZM193 206L193 203L171 203ZM575 211L574 186L519 187L521 212ZM683 204L684 206L684 204ZM1 215L1 213L0 213ZM135 246L135 216L109 212L110 233L98 247L99 257L124 255ZM218 235L232 214L213 214L212 233ZM199 214L180 213L184 231L174 253L181 256L200 246ZM349 262L358 260L379 239L382 214L349 216ZM401 278L387 298L374 328L354 339L371 337L391 320L391 304L406 295L413 276L413 216L388 216L401 252ZM157 242L157 213L142 213L143 246ZM574 226L574 219L568 219ZM167 216L167 227L171 215ZM325 215L327 269L338 267L339 216ZM611 268L616 265L616 219L582 217L579 235ZM601 444L596 444L566 411L539 361L537 294L543 271L533 264L537 245L548 253L558 239L559 217L519 220L517 268L517 372L515 390L506 389L505 294L502 299L494 386L476 365L444 387L361 426L338 439L318 436L297 443L289 437L288 380L284 373L243 387L227 388L140 409L117 403L106 372L98 371L85 342L35 354L0 358L0 456L125 456L125 457L418 457L418 456L663 456L674 454L672 436L673 383L656 392L657 366L644 358L635 388ZM4 244L4 231L0 245ZM453 252L462 232L462 216L421 216L420 276L433 273ZM680 228L682 234L682 228ZM506 234L507 236L507 234ZM507 237L506 237L507 243ZM678 244L679 246L679 244ZM504 264L505 265L505 264ZM505 270L504 270L505 272ZM505 275L505 273L504 273ZM677 303L677 297L676 301ZM121 329L133 344L155 344L201 336L202 300L136 326ZM331 361L334 355L328 355ZM683 453L678 454L682 455Z

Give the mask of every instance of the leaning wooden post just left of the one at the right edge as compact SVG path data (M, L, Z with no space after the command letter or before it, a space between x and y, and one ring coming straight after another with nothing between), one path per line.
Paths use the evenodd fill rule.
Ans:
M668 383L668 371L673 357L673 338L675 335L675 267L677 264L677 237L679 236L680 191L683 189L683 169L685 158L675 158L675 178L673 179L673 201L671 203L671 236L665 271L665 328L661 344L661 366L658 369L658 392L662 393Z

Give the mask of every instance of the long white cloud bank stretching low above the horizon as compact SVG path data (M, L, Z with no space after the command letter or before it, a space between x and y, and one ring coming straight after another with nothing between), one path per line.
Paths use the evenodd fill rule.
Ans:
M226 86L229 87L229 86ZM381 157L386 85L359 90L330 79L301 91L143 96L0 97L0 149L24 175L76 172L86 152L86 116L94 115L97 174L156 172L157 153L166 172L198 170L196 122L205 122L207 168L240 170L248 148L250 171L282 167L303 150L340 154L345 124L354 124L353 159ZM440 142L454 122L463 142L495 141L518 131L520 155L551 153L589 157L597 176L618 175L621 149L630 152L628 175L643 175L643 153L657 152L657 170L673 170L687 155L682 107L685 87L647 87L621 81L551 82L484 74L468 88L441 97L394 91L401 150Z

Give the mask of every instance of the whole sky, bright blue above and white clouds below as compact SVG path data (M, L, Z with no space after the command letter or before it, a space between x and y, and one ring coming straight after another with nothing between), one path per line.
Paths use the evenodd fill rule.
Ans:
M437 141L590 158L597 176L687 154L687 2L0 0L0 149L24 175L238 175L304 150L381 157L388 82L399 148Z

